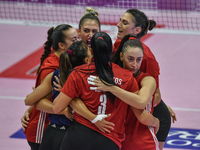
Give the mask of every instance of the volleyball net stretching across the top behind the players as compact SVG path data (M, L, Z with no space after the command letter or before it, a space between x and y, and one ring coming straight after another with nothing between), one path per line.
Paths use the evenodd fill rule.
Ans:
M0 21L35 25L78 24L92 7L104 25L116 25L127 9L139 9L157 27L200 31L200 0L0 0Z

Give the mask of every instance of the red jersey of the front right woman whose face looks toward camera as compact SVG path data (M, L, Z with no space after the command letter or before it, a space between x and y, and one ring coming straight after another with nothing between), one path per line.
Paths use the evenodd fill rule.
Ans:
M141 73L136 77L139 88L144 77L149 76L148 73ZM146 106L146 111L153 113L153 99ZM126 138L122 142L122 150L159 150L159 142L156 138L154 128L141 124L132 109L129 107L126 122Z

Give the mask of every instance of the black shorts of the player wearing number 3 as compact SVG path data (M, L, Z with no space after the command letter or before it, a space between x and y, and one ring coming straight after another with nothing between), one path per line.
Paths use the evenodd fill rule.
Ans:
M74 120L60 150L119 150L119 147L109 138Z

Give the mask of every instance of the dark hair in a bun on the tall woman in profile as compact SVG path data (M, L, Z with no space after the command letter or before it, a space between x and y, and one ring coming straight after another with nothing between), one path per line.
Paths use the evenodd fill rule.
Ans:
M142 31L137 35L137 38L141 38L147 34L148 30L152 30L156 26L154 20L148 20L148 17L138 9L128 9L126 13L130 13L133 16L133 22L135 27L141 27Z

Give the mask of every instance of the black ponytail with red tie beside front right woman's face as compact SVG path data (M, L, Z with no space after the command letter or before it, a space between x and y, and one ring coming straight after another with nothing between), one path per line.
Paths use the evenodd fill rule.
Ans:
M113 63L118 64L122 68L123 68L123 63L120 60L120 53L122 52L124 43L127 42L130 38L136 39L136 37L133 34L125 35L122 41L120 42L119 47L117 48L117 51L113 54L112 59L111 59Z

